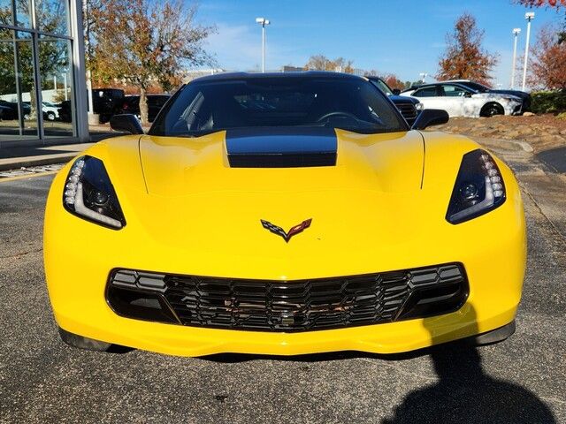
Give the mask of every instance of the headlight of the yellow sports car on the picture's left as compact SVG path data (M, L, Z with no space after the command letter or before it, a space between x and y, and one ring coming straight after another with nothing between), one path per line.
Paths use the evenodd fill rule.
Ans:
M73 215L118 230L126 219L108 173L100 159L81 156L69 171L63 205Z

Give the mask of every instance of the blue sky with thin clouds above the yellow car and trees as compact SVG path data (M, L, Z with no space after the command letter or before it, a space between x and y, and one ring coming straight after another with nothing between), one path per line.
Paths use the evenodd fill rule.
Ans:
M324 54L412 81L419 72L437 72L445 34L464 11L486 30L484 48L500 55L493 82L508 87L511 30L522 29L517 47L521 55L526 36L526 9L511 0L200 0L197 19L216 24L218 34L210 37L207 49L228 70L259 68L261 30L255 19L264 16L272 21L267 28L269 70L284 64L301 66L311 55ZM535 13L531 45L540 27L563 19L563 12Z

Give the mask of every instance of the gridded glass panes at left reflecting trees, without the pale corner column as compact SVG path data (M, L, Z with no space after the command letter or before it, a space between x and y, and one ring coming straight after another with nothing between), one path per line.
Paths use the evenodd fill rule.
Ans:
M0 141L76 136L69 34L68 0L0 0Z

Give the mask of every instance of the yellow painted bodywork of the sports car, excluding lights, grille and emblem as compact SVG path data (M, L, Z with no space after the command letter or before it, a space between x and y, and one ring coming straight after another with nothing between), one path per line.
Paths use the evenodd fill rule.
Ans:
M70 165L51 187L44 252L50 300L63 328L81 336L176 355L405 352L497 329L521 298L525 223L509 168L500 208L458 225L445 219L463 154L478 145L442 133L359 135L336 130L334 167L234 169L225 133L198 139L126 136L87 155L101 160L126 216L110 230L62 206ZM312 218L289 243L286 230ZM453 314L348 329L271 333L142 322L111 311L111 269L298 280L462 262L470 282Z

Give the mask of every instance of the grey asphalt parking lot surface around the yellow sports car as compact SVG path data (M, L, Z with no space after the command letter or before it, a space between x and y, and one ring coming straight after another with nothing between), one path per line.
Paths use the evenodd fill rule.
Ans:
M566 422L566 178L516 147L493 148L516 171L528 219L516 334L394 356L188 359L68 347L42 269L52 176L0 180L0 421ZM80 235L76 245L88 252Z

